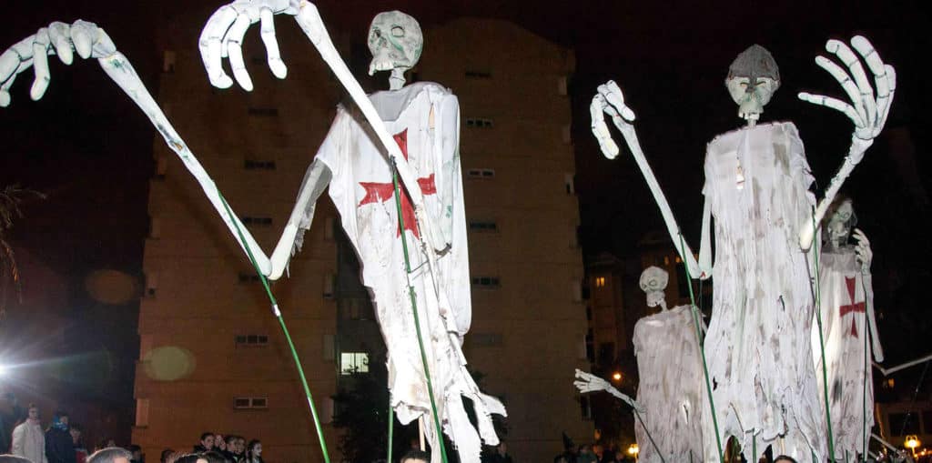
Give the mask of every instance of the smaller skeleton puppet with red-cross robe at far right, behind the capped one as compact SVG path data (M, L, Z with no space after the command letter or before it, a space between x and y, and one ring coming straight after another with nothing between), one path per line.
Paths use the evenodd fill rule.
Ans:
M831 430L835 438L835 452L850 456L863 452L865 441L870 439L873 427L870 365L872 361L884 361L873 314L870 279L873 254L864 233L857 228L852 233L856 224L857 215L851 199L836 197L822 224L823 244L819 256L819 293ZM854 245L848 244L852 237L857 241ZM869 341L872 343L872 355ZM813 356L821 390L822 357L818 342L818 333L814 330ZM824 401L822 405L825 406Z

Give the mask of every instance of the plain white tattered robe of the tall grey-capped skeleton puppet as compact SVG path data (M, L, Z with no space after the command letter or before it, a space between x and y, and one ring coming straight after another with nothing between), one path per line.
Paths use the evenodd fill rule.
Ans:
M716 243L706 361L722 447L734 436L750 461L768 444L798 461L827 454L810 339L814 301L797 238L811 220L812 182L792 123L739 129L708 144L703 191ZM705 461L716 461L711 416L703 423ZM749 455L752 433L758 456Z

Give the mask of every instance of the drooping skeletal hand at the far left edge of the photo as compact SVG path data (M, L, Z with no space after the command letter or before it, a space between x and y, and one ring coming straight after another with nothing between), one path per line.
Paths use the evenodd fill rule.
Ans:
M48 89L48 55L58 55L65 64L71 64L73 50L84 59L105 58L117 52L110 37L86 20L76 20L68 25L55 21L22 39L0 55L0 107L10 102L9 88L16 76L30 67L35 68L35 80L30 96L42 98Z

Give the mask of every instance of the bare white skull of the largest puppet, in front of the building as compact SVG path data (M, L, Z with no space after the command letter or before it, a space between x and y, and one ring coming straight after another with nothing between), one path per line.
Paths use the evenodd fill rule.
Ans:
M369 26L369 75L376 71L405 71L414 67L424 48L424 35L414 18L401 11L378 13Z

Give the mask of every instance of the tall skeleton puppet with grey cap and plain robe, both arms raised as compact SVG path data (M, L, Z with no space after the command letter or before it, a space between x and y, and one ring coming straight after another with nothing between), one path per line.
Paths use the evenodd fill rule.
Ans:
M847 71L829 59L816 58L841 83L851 102L799 95L805 102L841 111L855 123L848 155L817 207L809 191L814 179L796 127L791 122L757 124L763 106L779 87L775 61L760 46L748 48L733 61L725 83L747 126L708 143L698 262L644 157L633 125L635 114L624 104L621 89L610 81L599 87L593 99L592 129L602 152L609 158L619 153L604 120L606 113L635 157L690 275L715 277L705 358L721 441L713 416L704 414L705 461L720 459L729 436L746 451L757 443L759 454L773 444L775 451L797 460L810 453L820 460L828 457L826 419L820 414L810 343L815 312L810 247L815 225L883 129L896 87L893 67L881 61L867 39L856 36L851 44L861 59L841 41L826 44ZM862 60L873 75L876 94Z

